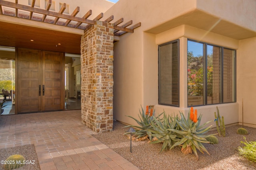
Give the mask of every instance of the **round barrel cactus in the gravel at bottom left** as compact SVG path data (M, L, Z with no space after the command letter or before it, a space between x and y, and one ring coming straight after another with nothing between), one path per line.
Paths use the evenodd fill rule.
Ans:
M22 156L20 154L14 154L12 156L9 156L6 159L6 162L8 164L4 164L4 169L6 169L6 170L13 170L13 169L16 169L16 168L20 168L20 167L22 167L24 165L24 164L22 164L22 162L24 160L25 160L24 156Z

